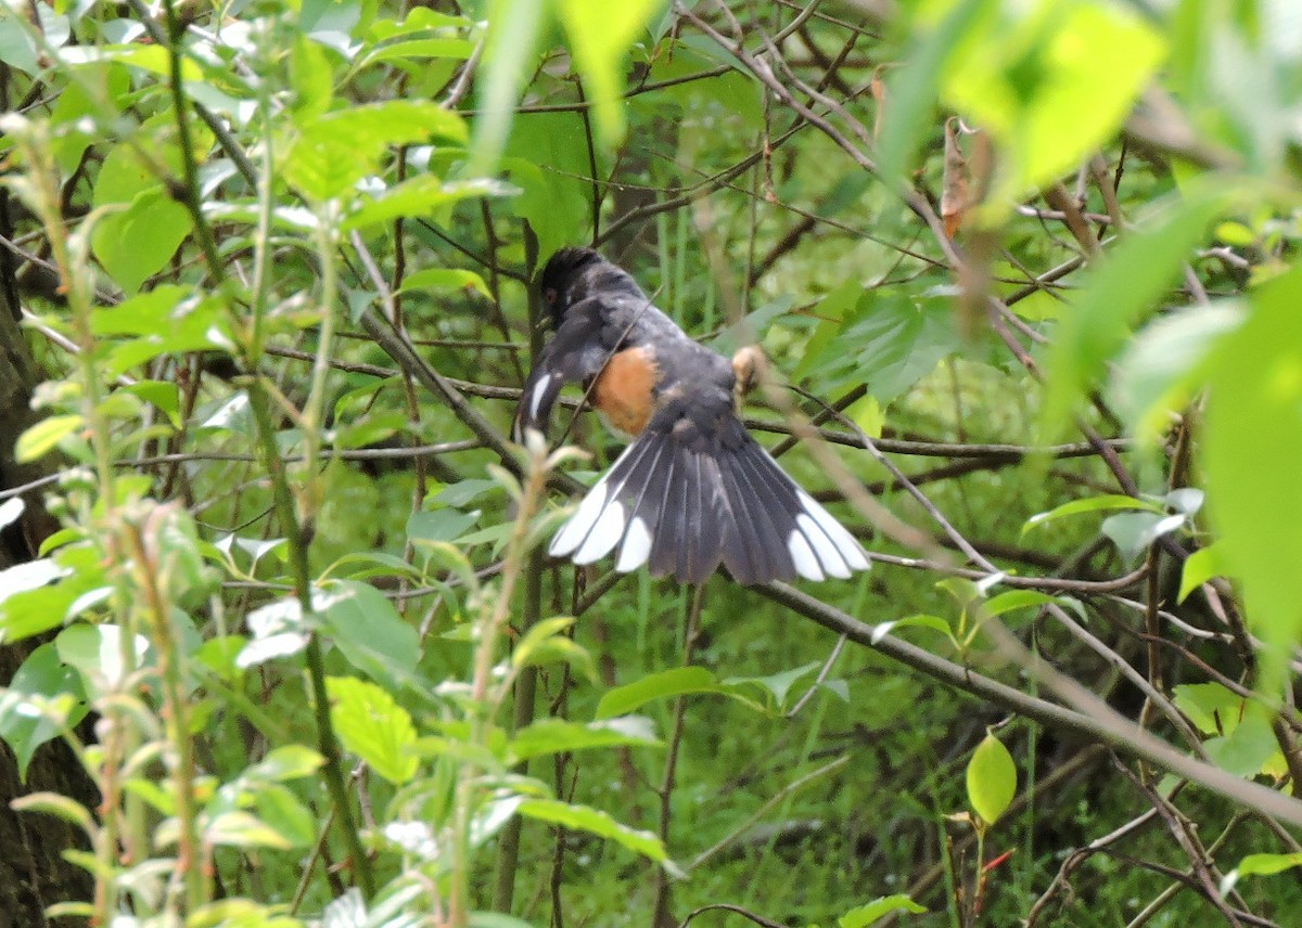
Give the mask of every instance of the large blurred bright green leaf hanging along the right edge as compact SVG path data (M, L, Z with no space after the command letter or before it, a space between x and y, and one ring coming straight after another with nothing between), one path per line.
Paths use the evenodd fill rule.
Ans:
M1240 578L1250 627L1271 644L1277 672L1302 638L1297 565L1302 493L1302 268L1253 293L1247 319L1210 363L1202 440L1208 514L1224 570ZM1263 682L1263 686L1268 683Z

